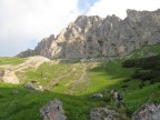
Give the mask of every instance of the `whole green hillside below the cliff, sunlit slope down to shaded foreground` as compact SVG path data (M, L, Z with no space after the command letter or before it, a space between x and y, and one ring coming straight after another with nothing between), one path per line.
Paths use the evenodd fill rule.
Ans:
M20 84L0 83L0 120L39 120L39 109L53 98L62 101L68 120L89 120L90 109L106 106L126 114L123 120L130 119L144 102L160 103L159 74L144 80L142 76L133 76L137 71L143 74L147 74L146 71L159 71L160 66L154 66L159 63L159 44L144 46L124 58L54 59L37 68L32 64L18 70L16 74ZM0 58L0 61L3 59ZM24 63L23 59L9 58L0 64L6 64L7 60L12 66ZM133 64L129 62L128 66L128 61L133 61ZM143 70L149 63L150 68ZM27 82L41 87L42 91L24 88L22 84ZM124 108L114 108L110 100L111 89L123 94ZM102 93L103 98L92 99L92 93Z

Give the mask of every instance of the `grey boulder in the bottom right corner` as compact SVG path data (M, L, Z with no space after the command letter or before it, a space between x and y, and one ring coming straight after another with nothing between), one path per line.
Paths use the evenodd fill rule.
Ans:
M143 104L134 112L132 120L160 120L160 106L152 102Z

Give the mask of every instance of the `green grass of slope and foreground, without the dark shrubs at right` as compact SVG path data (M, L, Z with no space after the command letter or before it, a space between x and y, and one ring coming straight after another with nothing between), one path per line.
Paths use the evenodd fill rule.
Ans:
M141 50L136 50L130 58L137 59L151 53L159 53L159 46L144 47ZM110 104L114 109L113 101L108 101L110 89L122 92L128 116L131 116L138 107L148 100L160 102L160 83L147 84L139 89L140 81L131 79L134 68L122 68L122 61L123 59L86 64L79 62L52 66L44 63L36 71L28 70L26 73L19 74L22 82L38 80L39 84L50 89L50 91L33 92L20 86L1 83L0 120L39 120L39 109L53 98L63 102L68 120L89 120L91 108ZM2 62L0 63L2 64ZM84 66L87 73L81 80ZM44 76L41 76L41 72ZM54 86L51 84L57 79L60 80ZM81 82L77 83L79 80ZM124 82L126 80L128 81ZM14 89L19 90L18 94L11 92ZM89 94L106 89L103 99L89 98ZM118 111L124 112L126 110L118 109Z

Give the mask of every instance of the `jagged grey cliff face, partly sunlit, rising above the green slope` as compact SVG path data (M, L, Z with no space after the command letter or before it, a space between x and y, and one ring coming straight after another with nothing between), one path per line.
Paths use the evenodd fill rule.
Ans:
M160 9L127 10L127 18L80 16L60 34L42 40L31 51L47 58L89 58L127 56L143 44L160 42ZM22 53L20 53L21 57Z

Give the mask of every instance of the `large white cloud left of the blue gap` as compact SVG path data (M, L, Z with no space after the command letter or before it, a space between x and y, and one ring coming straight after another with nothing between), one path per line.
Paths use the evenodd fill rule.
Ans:
M7 44L11 48L6 54L13 56L32 40L58 34L79 14L77 4L78 0L0 0L0 56L9 51Z

